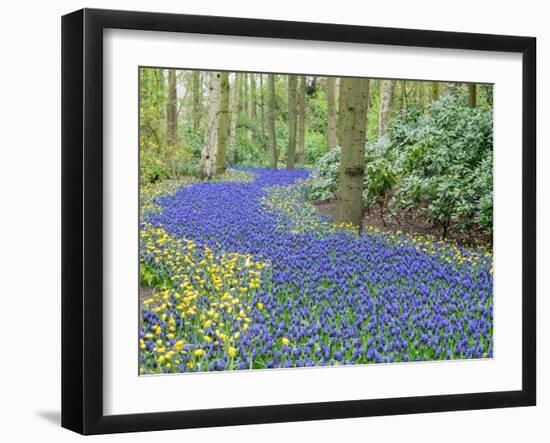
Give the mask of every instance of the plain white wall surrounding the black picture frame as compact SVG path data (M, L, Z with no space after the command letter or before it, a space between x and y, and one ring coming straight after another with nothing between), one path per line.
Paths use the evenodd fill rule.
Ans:
M543 171L549 124L550 28L536 0L338 2L202 0L170 2L53 0L5 2L0 26L0 438L74 441L59 427L60 411L60 16L81 7L155 10L281 20L319 21L538 38L539 303L538 406L411 416L284 423L102 436L94 441L146 442L535 441L550 438L550 193ZM546 108L544 113L543 108ZM546 274L546 275L543 275Z

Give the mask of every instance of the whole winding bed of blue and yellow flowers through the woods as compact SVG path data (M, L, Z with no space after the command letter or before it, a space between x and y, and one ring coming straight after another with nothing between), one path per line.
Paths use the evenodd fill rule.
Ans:
M304 200L306 171L240 174L146 202L141 373L492 357L489 250L358 235Z

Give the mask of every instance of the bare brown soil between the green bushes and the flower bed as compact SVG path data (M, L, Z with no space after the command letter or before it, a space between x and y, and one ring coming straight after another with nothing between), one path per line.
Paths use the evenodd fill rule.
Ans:
M336 201L315 201L313 206L317 211L334 219L336 217ZM363 218L363 227L373 226L383 232L405 232L420 235L429 235L441 239L441 228L434 226L426 217L422 217L414 212L400 214L395 217L388 210L380 211L378 209L365 212ZM490 245L490 236L478 231L469 231L466 234L453 232L448 233L446 240L451 240L459 245Z

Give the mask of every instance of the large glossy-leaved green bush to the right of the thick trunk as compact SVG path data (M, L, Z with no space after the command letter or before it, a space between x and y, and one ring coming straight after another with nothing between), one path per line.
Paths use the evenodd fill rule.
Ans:
M401 114L389 138L401 180L391 205L421 209L443 235L471 228L492 232L492 113L449 93L426 114Z

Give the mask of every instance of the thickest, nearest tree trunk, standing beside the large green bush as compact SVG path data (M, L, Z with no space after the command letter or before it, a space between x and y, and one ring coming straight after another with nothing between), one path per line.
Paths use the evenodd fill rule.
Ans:
M343 117L343 136L336 223L352 224L358 232L361 232L369 81L364 78L344 78L340 85L340 92L344 95L344 108L340 115L340 118Z

